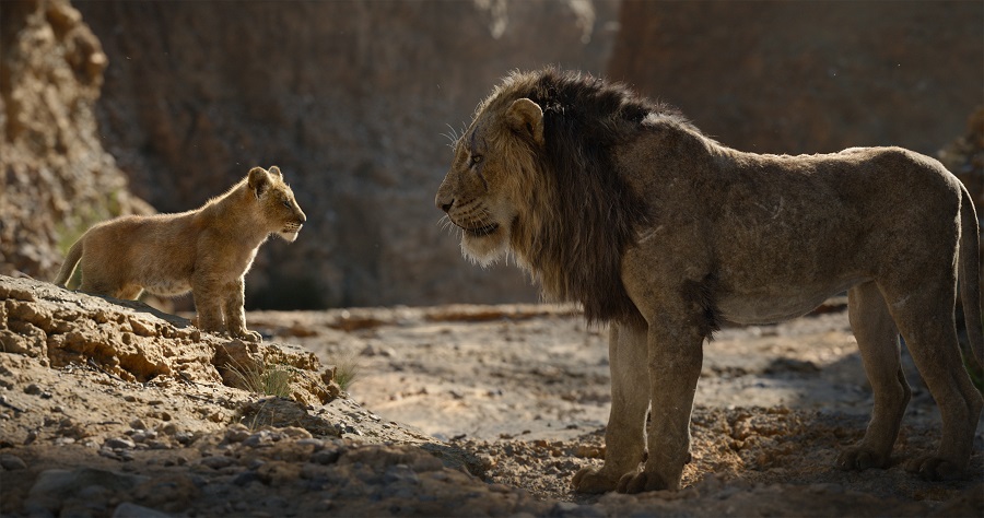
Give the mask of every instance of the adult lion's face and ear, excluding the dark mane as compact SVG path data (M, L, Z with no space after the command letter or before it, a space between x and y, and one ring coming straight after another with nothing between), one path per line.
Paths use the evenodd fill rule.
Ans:
M455 157L434 202L461 228L462 252L488 266L505 256L516 223L547 200L538 186L543 111L532 101L496 91L455 143Z

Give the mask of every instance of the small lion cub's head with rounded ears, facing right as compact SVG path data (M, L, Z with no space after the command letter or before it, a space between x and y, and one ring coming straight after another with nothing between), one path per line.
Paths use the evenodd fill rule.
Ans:
M293 243L307 217L297 205L294 191L284 184L280 167L274 165L269 170L254 167L249 169L246 183L256 197L259 216L270 233Z

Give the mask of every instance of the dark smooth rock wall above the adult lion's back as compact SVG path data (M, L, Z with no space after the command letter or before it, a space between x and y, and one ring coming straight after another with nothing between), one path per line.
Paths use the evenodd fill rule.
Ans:
M608 75L743 151L928 155L984 104L984 3L622 2Z

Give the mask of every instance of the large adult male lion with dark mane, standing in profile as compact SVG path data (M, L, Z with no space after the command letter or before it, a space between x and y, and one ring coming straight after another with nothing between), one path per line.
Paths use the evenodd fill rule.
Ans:
M911 396L901 332L942 416L939 448L909 468L964 472L984 402L953 317L959 267L984 362L979 229L937 161L899 148L743 153L619 85L547 69L509 75L479 105L435 201L467 256L512 254L548 299L611 323L605 463L581 470L576 491L678 488L718 322L797 317L845 290L875 410L837 466L888 463Z

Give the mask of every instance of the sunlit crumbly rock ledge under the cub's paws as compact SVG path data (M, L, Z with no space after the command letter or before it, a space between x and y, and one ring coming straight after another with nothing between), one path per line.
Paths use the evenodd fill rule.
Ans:
M300 403L324 404L339 395L333 369L323 369L311 352L202 332L139 302L0 275L0 352L37 357L43 366L89 365L128 382L242 389L279 368L283 396Z

